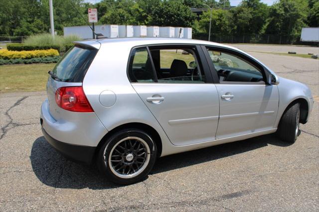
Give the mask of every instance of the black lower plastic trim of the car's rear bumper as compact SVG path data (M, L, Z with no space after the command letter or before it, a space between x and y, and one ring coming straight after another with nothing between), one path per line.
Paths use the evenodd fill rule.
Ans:
M69 143L64 143L62 141L58 141L51 137L43 127L42 133L45 139L48 141L51 146L60 152L63 156L78 162L82 162L85 164L92 164L92 159L95 153L96 147L92 146L81 146L81 145L74 145Z

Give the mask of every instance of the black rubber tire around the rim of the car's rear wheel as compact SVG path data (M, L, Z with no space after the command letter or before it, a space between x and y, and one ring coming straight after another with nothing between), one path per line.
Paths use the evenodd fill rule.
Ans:
M148 144L150 147L150 161L147 167L143 172L141 172L139 175L133 177L133 178L121 178L119 176L116 176L109 166L109 154L114 147L120 140L126 138L126 137L140 137ZM104 161L104 150L106 157L106 162ZM140 130L140 129L127 129L127 130L121 130L114 135L112 135L107 141L102 145L102 147L99 150L99 155L97 157L97 163L100 171L102 174L104 174L110 181L117 183L117 184L132 184L135 182L138 182L142 179L144 179L149 172L152 170L154 163L156 161L157 157L157 147L155 145L155 142L153 141L152 137L149 136L146 132Z

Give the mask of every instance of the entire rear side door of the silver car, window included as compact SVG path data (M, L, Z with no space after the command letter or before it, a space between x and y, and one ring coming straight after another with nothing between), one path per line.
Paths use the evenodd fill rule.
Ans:
M215 139L219 100L199 55L204 57L196 46L150 46L131 54L132 86L174 145Z

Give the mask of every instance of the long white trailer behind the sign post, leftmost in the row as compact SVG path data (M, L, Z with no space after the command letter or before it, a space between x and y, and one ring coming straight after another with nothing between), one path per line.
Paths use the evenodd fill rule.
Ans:
M118 25L96 25L95 33L103 34L104 37L115 38L119 37ZM89 26L68 26L63 27L64 36L77 35L82 39L92 39L93 33Z

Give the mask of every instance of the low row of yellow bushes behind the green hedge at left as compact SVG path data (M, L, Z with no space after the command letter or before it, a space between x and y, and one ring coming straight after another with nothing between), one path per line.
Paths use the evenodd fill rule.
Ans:
M34 51L8 51L0 50L0 59L31 59L35 57L53 57L59 56L56 49L34 50Z

